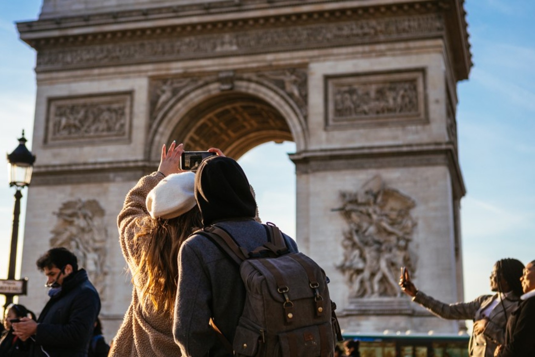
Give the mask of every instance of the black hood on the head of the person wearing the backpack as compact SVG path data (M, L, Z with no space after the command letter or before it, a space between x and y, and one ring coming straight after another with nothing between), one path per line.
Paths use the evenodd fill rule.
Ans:
M230 157L205 159L195 174L195 199L202 222L254 218L256 201L240 165Z

